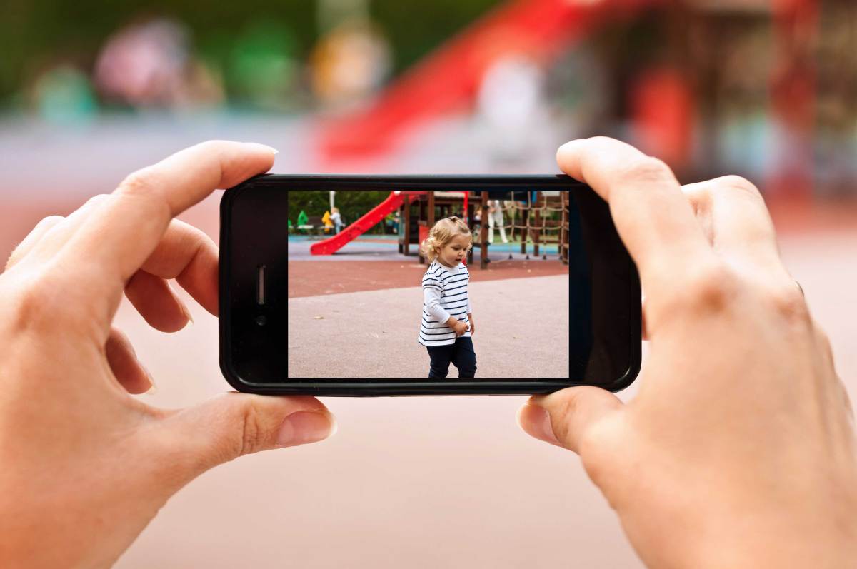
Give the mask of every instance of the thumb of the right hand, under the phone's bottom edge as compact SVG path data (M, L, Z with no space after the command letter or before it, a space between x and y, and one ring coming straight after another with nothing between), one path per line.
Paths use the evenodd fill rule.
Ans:
M518 425L538 440L579 454L581 440L593 425L620 410L622 405L613 393L600 387L569 387L531 397L518 410Z

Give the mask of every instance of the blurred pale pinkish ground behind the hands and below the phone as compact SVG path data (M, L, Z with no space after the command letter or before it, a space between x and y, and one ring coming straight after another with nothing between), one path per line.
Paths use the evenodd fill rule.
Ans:
M781 243L857 401L857 231ZM390 292L399 291L379 294ZM120 311L117 325L159 380L149 403L177 407L228 389L216 320L191 310L195 326L177 334L147 328L127 305ZM641 568L578 458L520 433L514 414L523 401L327 398L339 418L332 440L208 472L163 508L117 567Z

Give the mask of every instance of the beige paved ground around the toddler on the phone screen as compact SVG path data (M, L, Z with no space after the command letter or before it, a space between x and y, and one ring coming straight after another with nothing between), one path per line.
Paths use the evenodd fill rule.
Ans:
M567 276L473 282L470 296L476 377L568 377ZM422 307L419 286L290 298L289 377L427 377Z

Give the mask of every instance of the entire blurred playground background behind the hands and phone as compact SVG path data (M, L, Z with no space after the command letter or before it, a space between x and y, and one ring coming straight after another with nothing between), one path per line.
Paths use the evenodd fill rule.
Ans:
M852 0L6 0L0 38L5 255L209 138L276 147L278 172L549 173L561 142L612 135L682 183L758 185L855 397ZM183 216L215 239L218 199ZM226 386L195 317L167 337L118 314L154 404ZM638 566L577 458L518 432L521 401L327 401L336 438L208 473L119 565Z

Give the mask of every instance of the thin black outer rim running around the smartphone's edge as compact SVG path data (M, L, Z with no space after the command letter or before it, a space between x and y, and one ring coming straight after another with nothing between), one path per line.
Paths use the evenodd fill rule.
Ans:
M231 365L231 256L225 255L231 246L231 211L234 201L242 192L256 185L290 185L300 190L353 189L385 190L393 189L554 189L570 190L585 186L564 175L490 175L490 176L451 176L451 175L408 175L408 176L358 176L358 175L281 175L264 174L253 177L236 187L225 191L220 201L220 261L219 261L219 338L220 368L231 386L241 392L261 394L309 394L316 396L387 396L387 395L520 395L554 392L569 386L596 385L618 392L632 384L636 379L641 363L641 307L640 287L636 267L630 256L628 282L629 307L629 366L626 372L609 383L587 383L566 378L544 378L542 380L499 380L478 381L426 381L424 378L403 378L405 380L383 380L381 378L356 379L306 379L285 383L257 383L244 380ZM286 189L285 191L289 191ZM588 189L588 191L592 191ZM600 200L600 198L598 198ZM636 302L634 302L636 299ZM637 309L633 309L633 307ZM636 333L635 333L636 332Z

